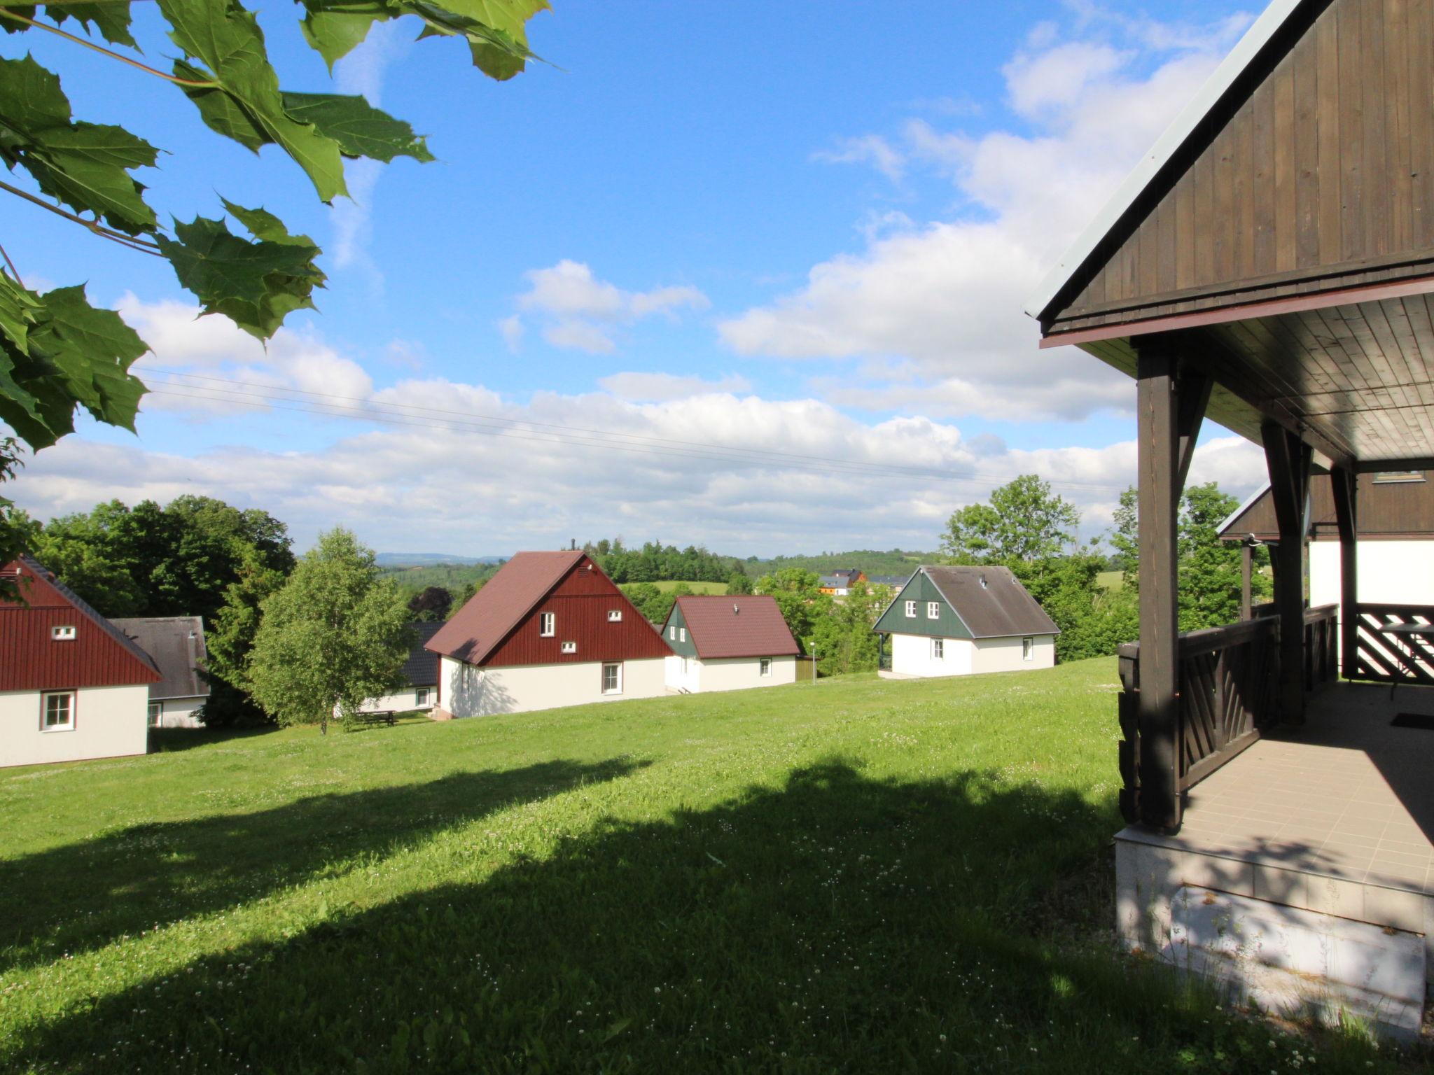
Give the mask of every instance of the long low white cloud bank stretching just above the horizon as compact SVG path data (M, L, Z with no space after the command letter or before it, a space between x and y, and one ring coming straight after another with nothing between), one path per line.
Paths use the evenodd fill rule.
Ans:
M324 376L327 391L361 388ZM138 444L67 437L7 492L39 517L110 497L205 493L272 512L301 546L343 525L379 549L412 548L422 519L432 548L475 555L614 533L747 555L932 549L955 507L1030 472L1080 505L1093 533L1134 480L1131 441L1014 450L929 417L863 423L819 400L674 391L634 401L612 390L512 400L433 378L367 400L370 414L396 421L350 421L318 450L151 452L142 417ZM1259 450L1233 437L1200 449L1192 472L1235 494L1262 476Z

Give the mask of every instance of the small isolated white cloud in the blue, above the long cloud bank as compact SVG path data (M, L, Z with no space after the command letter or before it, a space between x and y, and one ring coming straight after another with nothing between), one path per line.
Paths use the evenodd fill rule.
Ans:
M554 347L611 354L614 331L644 318L675 317L681 310L706 310L707 295L690 285L668 285L651 291L624 291L598 280L578 261L562 259L551 268L525 274L529 288L518 297L518 308L535 317L543 338ZM509 348L516 348L525 322L522 314L499 321Z

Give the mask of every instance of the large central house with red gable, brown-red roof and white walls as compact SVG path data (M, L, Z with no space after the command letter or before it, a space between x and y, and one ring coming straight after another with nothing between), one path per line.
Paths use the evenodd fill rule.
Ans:
M426 648L439 717L652 698L673 652L579 549L518 553Z

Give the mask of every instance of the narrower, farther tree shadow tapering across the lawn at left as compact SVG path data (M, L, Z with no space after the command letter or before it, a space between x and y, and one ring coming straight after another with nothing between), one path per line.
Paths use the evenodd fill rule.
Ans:
M515 803L647 763L546 761L141 824L0 863L0 972L254 900Z

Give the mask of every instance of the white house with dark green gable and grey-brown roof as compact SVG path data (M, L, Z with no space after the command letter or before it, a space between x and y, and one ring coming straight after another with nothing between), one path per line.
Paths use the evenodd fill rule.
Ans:
M895 679L1055 664L1060 628L1008 568L921 568L876 621Z

